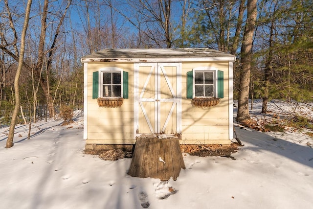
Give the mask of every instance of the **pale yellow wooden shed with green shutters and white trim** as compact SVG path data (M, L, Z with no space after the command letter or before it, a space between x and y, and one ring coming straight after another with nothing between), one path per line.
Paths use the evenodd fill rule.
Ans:
M209 48L104 49L84 63L84 139L230 144L234 55Z

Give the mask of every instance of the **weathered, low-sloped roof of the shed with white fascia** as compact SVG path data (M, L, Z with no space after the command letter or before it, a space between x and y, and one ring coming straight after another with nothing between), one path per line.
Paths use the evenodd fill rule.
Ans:
M235 61L236 57L210 48L103 49L83 56L81 62L188 62Z

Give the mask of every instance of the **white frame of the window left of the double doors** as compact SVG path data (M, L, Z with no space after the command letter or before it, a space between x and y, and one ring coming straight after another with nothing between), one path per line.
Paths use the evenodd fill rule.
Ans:
M104 89L104 84L103 84L103 74L105 72L118 72L120 73L121 75L121 83L120 83L120 86L121 86L121 96L103 96L103 89ZM99 90L98 90L98 95L100 95L99 97L100 98L123 98L123 70L120 69L120 68L116 68L116 67L107 67L107 68L102 68L99 70ZM113 86L114 84L111 83L111 86ZM112 90L111 90L112 92Z

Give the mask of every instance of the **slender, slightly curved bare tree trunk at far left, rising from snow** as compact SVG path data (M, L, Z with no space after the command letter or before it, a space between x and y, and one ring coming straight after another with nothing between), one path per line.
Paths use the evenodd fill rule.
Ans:
M15 107L14 107L14 111L12 114L12 120L11 120L11 124L10 124L9 135L8 135L8 139L6 140L5 148L10 148L13 146L14 130L15 130L15 125L16 125L17 117L19 115L19 110L20 110L19 80L20 80L22 67L23 67L25 36L26 36L27 28L28 28L29 12L30 12L31 3L32 3L32 0L27 1L27 7L26 7L26 11L25 11L25 19L24 19L24 24L23 24L23 29L22 29L22 36L21 36L21 49L20 49L19 66L18 66L18 69L16 71L15 79L14 79Z

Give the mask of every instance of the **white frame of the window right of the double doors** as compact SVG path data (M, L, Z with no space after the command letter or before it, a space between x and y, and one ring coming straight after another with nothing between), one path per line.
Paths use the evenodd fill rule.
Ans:
M195 72L213 72L213 96L196 96L196 80L195 80ZM193 98L214 98L214 97L218 97L218 86L217 86L217 81L218 81L218 69L217 68L213 68L213 67L198 67L198 68L194 68L192 70L192 97ZM203 86L205 85L205 83L203 83ZM203 89L203 91L205 91Z

